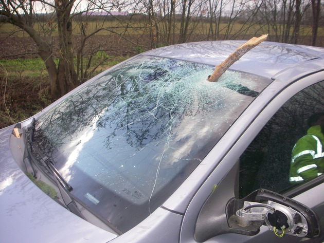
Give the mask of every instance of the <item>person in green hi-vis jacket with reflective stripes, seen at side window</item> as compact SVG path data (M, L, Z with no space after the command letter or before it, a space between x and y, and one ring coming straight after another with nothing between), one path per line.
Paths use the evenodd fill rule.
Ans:
M324 173L324 113L308 119L307 135L295 144L290 164L291 183L300 183Z

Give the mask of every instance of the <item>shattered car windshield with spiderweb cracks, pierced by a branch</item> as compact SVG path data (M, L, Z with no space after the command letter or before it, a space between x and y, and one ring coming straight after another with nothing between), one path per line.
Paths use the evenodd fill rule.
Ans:
M140 55L43 115L34 141L71 194L123 233L159 207L271 82Z

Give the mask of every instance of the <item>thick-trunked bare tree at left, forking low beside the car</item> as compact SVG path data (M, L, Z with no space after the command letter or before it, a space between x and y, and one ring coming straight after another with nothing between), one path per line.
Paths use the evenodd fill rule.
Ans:
M38 47L38 54L45 63L50 80L50 92L53 97L60 97L77 85L77 76L73 60L71 9L75 0L57 0L54 5L49 2L40 3L55 9L59 36L59 63L54 62L51 43L48 36L42 35L35 27L35 10L33 1L0 0L0 13L7 18L2 21L11 23L28 33ZM52 20L51 20L52 21Z

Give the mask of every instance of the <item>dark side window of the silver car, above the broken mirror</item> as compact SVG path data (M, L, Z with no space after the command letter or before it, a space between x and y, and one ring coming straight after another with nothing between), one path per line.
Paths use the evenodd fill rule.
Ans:
M322 112L324 81L303 89L277 111L240 157L240 198L260 188L282 193L306 181L305 177L302 179L290 172L292 152L296 142L308 133L309 117ZM319 143L315 140L312 143L323 146L322 130L317 133L321 134L317 136ZM324 154L323 151L320 153L316 158L317 162L299 165L303 168L299 168L299 173L310 169L310 166L314 167L318 160L321 160L322 165L317 168L319 171L316 171L316 176L324 173Z

